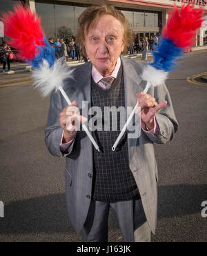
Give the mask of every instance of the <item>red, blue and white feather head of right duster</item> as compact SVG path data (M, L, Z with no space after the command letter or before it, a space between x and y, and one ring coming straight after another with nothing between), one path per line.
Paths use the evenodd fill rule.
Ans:
M141 76L148 81L148 88L151 85L163 84L168 72L176 65L177 57L183 55L185 49L193 45L203 15L204 10L195 8L191 3L181 6L181 10L174 6L174 9L168 13L168 21L161 32L159 46L152 53L153 62L146 65Z

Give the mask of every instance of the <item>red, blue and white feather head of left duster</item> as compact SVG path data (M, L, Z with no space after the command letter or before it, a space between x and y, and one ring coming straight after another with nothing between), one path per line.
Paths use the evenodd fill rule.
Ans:
M19 59L33 66L34 84L43 97L53 89L61 89L71 71L61 59L55 60L54 48L48 43L37 14L17 4L14 12L4 14L2 20L10 46L18 50Z

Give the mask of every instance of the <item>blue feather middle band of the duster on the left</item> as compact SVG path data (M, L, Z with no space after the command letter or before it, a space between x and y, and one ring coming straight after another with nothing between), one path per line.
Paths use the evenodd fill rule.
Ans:
M45 46L37 46L40 50L38 55L33 60L28 60L28 63L32 65L34 68L39 69L43 64L43 60L46 60L50 66L50 68L55 63L55 50L50 46L48 40L45 35L43 35Z

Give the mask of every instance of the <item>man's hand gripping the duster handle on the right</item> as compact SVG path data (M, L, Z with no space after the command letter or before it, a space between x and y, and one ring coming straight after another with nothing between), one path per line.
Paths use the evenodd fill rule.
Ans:
M137 93L137 102L139 103L139 107L141 107L141 120L145 123L148 129L154 128L154 116L160 109L166 107L166 100L160 102L159 104L156 102L155 98L153 98L150 94Z

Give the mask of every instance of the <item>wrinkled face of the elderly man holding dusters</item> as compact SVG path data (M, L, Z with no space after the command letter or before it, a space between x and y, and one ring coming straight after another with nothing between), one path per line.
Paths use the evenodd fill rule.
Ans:
M111 15L98 17L85 32L86 53L97 71L108 76L124 51L124 26Z

